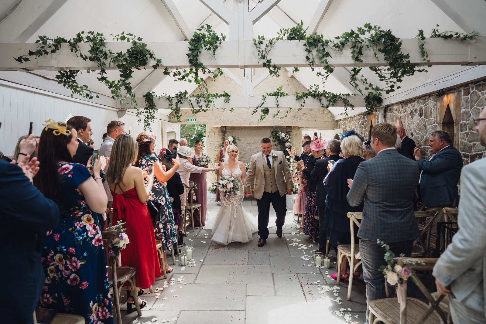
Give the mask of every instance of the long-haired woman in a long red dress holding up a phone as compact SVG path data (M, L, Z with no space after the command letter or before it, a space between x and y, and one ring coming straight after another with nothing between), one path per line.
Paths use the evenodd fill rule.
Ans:
M125 222L130 243L121 250L121 265L135 267L137 291L127 289L127 313L132 312L135 297L150 288L160 278L160 264L154 235L154 226L145 202L152 194L154 172L147 174L132 166L137 163L139 146L135 138L121 134L115 139L106 171L106 181L113 196L113 222ZM145 187L144 177L148 184ZM140 290L141 289L141 290ZM139 297L137 297L139 298ZM140 308L147 305L139 298Z

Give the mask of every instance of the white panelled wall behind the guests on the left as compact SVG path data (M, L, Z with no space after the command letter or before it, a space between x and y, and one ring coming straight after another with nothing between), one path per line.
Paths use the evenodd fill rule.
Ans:
M13 155L18 138L27 135L30 121L34 122L34 134L40 136L45 120L66 121L69 114L91 119L91 138L96 148L101 146L108 122L118 119L116 108L0 80L0 151L7 156ZM143 120L138 124L134 113L127 112L120 120L125 123L127 133L131 127L132 136L143 132ZM158 149L162 148L160 121L156 119L152 124Z

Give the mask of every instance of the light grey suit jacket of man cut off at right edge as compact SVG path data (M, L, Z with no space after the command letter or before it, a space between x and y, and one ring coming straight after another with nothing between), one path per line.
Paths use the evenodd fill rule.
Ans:
M479 289L486 296L486 159L462 169L461 201L457 217L459 231L434 267L434 277L451 286L458 301ZM476 301L478 302L478 301ZM484 305L486 317L486 301Z

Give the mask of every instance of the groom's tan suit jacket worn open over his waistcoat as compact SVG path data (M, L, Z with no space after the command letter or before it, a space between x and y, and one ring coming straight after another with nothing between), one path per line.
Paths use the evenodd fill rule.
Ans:
M277 154L278 158L273 159L272 154ZM280 193L280 196L283 196L287 189L292 188L292 173L290 172L289 165L285 160L283 152L271 151L269 158L272 159L271 170L275 172L275 182L277 184L278 192ZM250 188L255 181L253 197L256 199L261 199L265 189L264 168L268 169L265 155L262 152L253 154L250 160L250 167L246 172L246 186L244 191L250 191Z

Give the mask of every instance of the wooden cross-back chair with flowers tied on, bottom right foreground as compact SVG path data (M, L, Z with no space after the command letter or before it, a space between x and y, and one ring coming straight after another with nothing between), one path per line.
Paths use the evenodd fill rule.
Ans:
M417 271L432 271L438 259L400 257L397 263ZM413 274L417 281L417 287L425 295L429 304L417 298L407 297L404 307L400 310L398 298L384 298L373 300L369 303L369 323L383 322L385 324L445 324L447 315L440 307L445 297L440 295L435 299L420 281L417 274ZM411 280L410 278L408 280Z

